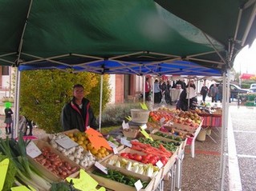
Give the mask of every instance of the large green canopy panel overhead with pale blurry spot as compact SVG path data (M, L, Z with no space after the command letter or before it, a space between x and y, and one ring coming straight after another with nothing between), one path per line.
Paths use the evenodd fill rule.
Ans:
M106 60L150 65L211 54L213 60L205 66L225 68L225 46L153 1L1 0L0 4L2 65L36 67L35 63L47 61L55 68L87 70L87 63Z

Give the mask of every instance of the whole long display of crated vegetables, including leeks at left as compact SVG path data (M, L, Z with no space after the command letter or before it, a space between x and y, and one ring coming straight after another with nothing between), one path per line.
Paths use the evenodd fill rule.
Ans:
M75 185L72 182L67 183L65 179L78 177L79 169L89 173L92 178L99 177L95 178L95 181L108 189L120 190L124 186L124 191L136 190L129 186L135 187L136 181L140 180L145 191L155 190L169 173L176 156L185 148L187 137L193 136L190 129L197 129L201 120L196 112L161 108L149 113L145 129L146 132L151 132L154 141L148 138L147 133L140 133L139 128L136 129L139 138L132 141L125 139L128 142L125 142L123 137L108 136L105 139L97 131L85 133L72 129L49 135L47 139L33 140L42 152L36 157L27 155L27 142L23 140L22 133L18 141L8 137L6 140L0 139L0 162L6 158L11 159L3 190L10 190L13 185L31 185L40 191L58 190L57 188L64 190L71 187L75 190ZM130 131L124 133L133 133ZM124 145L120 146L118 140ZM108 141L119 146L113 150L119 153L110 151ZM161 164L163 166L160 166ZM108 174L104 173L105 169L101 169L99 165L107 168ZM106 178L109 179L108 183Z

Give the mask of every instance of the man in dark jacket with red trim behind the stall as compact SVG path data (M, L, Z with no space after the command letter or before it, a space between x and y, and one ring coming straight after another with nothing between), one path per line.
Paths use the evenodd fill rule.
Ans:
M79 129L83 132L91 127L97 129L90 101L84 97L84 88L80 84L73 86L73 99L63 107L61 114L63 129Z

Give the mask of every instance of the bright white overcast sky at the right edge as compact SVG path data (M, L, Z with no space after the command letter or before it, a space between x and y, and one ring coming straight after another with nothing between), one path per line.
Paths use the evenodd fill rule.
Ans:
M247 74L256 74L256 39L250 48L246 46L234 60L234 70Z

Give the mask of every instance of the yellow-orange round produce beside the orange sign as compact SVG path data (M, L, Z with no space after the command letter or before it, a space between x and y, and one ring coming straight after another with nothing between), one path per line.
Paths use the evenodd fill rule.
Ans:
M84 150L90 151L98 159L102 159L110 154L108 149L104 148L103 146L100 147L100 149L95 149L95 147L91 144L91 141L89 141L87 133L85 132L70 132L67 133L67 136L82 146Z

